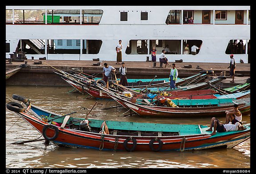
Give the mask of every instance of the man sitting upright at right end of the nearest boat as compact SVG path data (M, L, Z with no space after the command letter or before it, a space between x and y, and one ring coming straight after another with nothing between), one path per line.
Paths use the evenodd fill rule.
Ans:
M238 110L238 104L234 104L233 109L226 112L226 124L242 124L242 113Z

